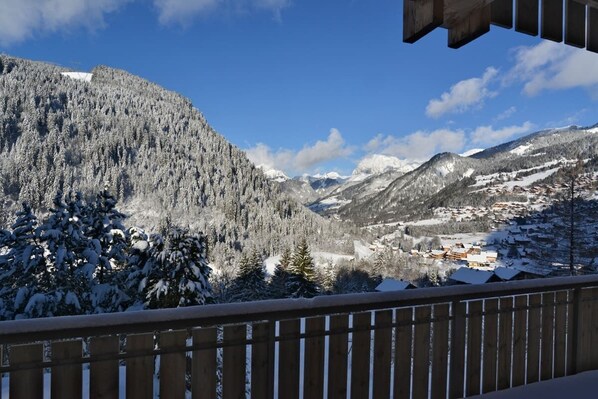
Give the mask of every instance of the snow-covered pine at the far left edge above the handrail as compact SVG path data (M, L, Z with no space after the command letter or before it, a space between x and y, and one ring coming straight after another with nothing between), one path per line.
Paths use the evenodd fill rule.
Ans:
M12 232L0 232L0 319L30 317L25 311L29 300L50 284L44 249L35 233L37 217L27 203L16 217Z

